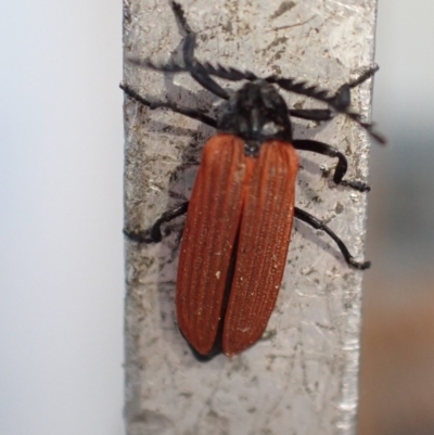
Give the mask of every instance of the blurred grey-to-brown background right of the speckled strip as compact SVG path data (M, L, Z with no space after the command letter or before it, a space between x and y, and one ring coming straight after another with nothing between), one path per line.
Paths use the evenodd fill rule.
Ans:
M433 17L379 0L359 435L434 434Z

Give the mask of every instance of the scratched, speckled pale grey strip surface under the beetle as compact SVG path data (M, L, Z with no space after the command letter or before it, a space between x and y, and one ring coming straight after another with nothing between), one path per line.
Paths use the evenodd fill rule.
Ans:
M373 0L182 0L199 34L196 55L336 89L373 61ZM125 54L168 59L181 36L166 1L124 0ZM125 65L143 94L208 107L210 97L187 75L162 76ZM230 84L230 86L237 86ZM353 92L369 114L371 82ZM289 102L305 99L288 95ZM304 105L320 107L307 101ZM190 196L201 146L213 129L167 111L126 102L126 223L145 228ZM315 126L295 120L294 137L337 146L349 176L366 179L369 139L344 116ZM301 153L297 205L326 220L363 257L366 194L336 188ZM197 362L175 317L175 277L183 218L162 243L126 243L126 424L129 435L344 435L355 433L362 272L333 242L297 222L288 267L264 338L229 360Z

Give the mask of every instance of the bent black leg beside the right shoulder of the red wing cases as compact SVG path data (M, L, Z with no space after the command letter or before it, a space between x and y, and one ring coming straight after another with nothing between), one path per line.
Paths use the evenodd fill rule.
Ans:
M348 164L344 154L342 154L335 148L328 145L327 143L317 142L315 140L302 139L293 140L292 144L296 150L311 151L314 153L328 155L329 157L337 157L337 165L333 174L333 181L336 184L347 185L348 188L358 190L359 192L369 192L371 190L371 188L362 181L343 180L348 168Z

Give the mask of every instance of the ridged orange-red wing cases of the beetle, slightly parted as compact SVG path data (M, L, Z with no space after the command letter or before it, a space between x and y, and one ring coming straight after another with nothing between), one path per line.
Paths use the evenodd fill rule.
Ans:
M212 351L220 329L227 356L263 335L286 263L297 170L294 148L278 140L256 157L233 135L205 144L176 287L179 328L199 354Z

